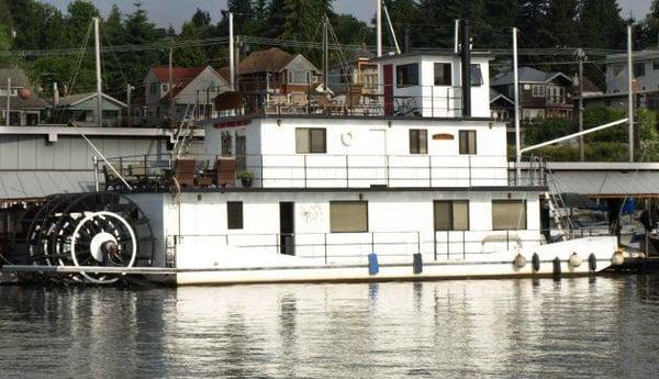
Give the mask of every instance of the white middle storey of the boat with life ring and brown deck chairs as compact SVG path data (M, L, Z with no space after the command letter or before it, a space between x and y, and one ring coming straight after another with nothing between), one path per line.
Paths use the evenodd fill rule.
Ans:
M474 118L261 115L209 122L205 151L182 159L160 154L110 161L135 187L166 186L165 177L182 188L224 190L544 187L538 164L533 175L514 177L505 133L505 124Z

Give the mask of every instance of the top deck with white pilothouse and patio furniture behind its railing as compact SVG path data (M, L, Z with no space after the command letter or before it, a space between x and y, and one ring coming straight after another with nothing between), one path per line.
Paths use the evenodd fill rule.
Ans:
M239 93L221 94L216 105L245 115L489 118L490 59L487 53L472 54L468 86L461 80L460 56L453 52L373 59L377 78L369 71L368 81L355 80L366 76L359 71L362 66L346 67L330 75L327 91L311 77L306 77L306 82L282 86L281 80L295 76L284 76L279 81L270 75L250 76L241 78ZM469 110L463 103L466 90L471 94Z

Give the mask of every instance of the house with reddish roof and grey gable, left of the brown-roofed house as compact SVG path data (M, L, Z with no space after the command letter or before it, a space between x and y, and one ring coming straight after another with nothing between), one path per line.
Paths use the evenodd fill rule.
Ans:
M228 82L211 66L171 69L152 67L144 79L144 99L137 102L145 109L148 124L161 125L171 119L179 122L189 119L216 116L213 99L228 90Z

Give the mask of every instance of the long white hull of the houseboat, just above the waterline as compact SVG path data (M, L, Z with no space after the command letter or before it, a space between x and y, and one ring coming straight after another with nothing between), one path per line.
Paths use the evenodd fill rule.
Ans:
M538 246L535 252L521 252L526 258L524 267L513 264L516 252L489 254L466 260L434 260L429 254L423 255L423 271L414 274L413 259L381 257L379 272L370 274L368 258L360 264L325 265L321 259L309 259L271 254L249 254L246 259L231 253L206 253L206 259L214 260L211 267L179 267L176 285L235 285L275 282L320 282L320 281L389 281L389 280L439 280L458 278L513 278L555 275L554 259L560 259L560 275L589 275L593 271L588 258L594 254L595 271L612 265L612 256L617 247L615 237L589 237L569 242ZM540 267L533 268L532 257L537 253ZM582 261L578 267L570 264L570 256L577 253ZM268 265L258 265L267 261Z

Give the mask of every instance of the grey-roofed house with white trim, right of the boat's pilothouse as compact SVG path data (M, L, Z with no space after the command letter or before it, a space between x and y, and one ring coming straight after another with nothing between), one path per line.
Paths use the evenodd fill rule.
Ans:
M514 75L502 73L491 82L490 103L495 114L514 114ZM522 119L533 122L550 116L572 116L572 79L562 73L545 73L532 67L520 68L520 107Z

